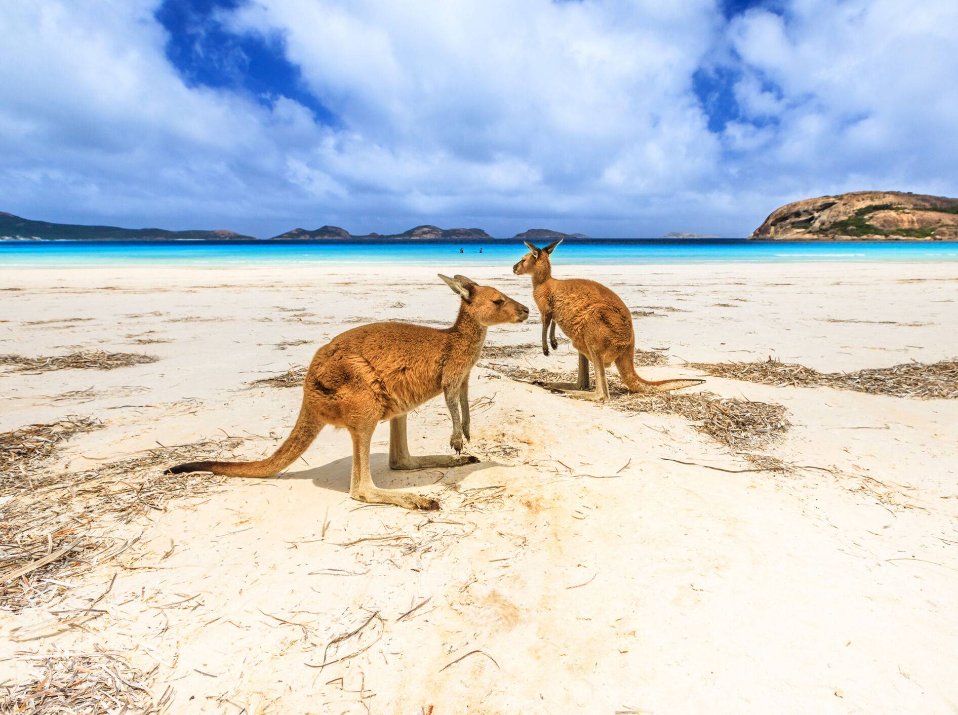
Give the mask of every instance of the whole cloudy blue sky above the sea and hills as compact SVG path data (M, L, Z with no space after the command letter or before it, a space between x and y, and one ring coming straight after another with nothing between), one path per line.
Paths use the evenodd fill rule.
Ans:
M0 4L0 210L231 228L749 233L958 195L958 3Z

